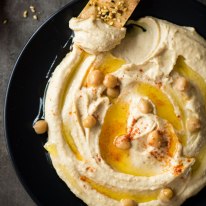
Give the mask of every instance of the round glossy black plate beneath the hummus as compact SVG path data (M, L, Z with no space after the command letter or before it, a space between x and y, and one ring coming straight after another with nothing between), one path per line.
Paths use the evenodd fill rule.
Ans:
M32 36L17 60L7 91L5 131L9 152L21 182L38 205L85 205L69 191L49 163L43 148L46 136L37 136L32 129L48 81L46 76L69 51L68 21L78 16L85 3L72 1ZM146 15L193 26L206 37L206 7L195 0L142 0L132 18ZM184 206L205 206L205 196L206 189Z

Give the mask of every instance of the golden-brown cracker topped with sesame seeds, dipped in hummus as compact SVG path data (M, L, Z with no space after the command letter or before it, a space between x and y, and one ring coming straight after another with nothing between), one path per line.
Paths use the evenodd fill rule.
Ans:
M90 0L79 17L87 19L93 16L110 26L122 28L140 0Z

